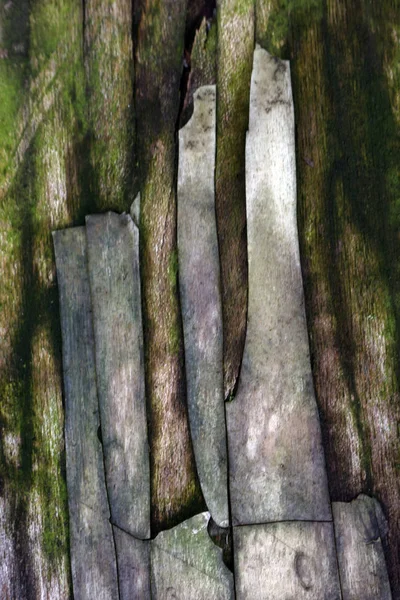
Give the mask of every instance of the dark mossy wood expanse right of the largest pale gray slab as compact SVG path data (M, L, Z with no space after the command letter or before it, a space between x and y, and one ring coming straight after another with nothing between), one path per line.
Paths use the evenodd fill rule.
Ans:
M256 3L257 40L292 60L298 224L333 500L375 495L400 598L397 0Z

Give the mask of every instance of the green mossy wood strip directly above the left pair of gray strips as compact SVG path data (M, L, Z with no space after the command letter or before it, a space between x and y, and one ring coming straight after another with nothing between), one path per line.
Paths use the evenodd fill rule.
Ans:
M98 209L123 211L133 200L135 165L132 1L83 6L91 192Z

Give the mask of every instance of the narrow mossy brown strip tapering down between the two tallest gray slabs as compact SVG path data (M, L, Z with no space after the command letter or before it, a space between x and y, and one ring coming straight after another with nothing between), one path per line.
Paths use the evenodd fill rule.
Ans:
M218 0L216 209L221 255L224 389L237 383L246 335L245 140L254 50L252 0Z

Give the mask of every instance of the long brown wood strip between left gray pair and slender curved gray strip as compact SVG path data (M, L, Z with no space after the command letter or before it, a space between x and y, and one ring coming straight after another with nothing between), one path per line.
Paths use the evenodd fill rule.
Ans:
M176 139L186 0L136 6L141 273L152 531L204 507L189 435L177 289Z

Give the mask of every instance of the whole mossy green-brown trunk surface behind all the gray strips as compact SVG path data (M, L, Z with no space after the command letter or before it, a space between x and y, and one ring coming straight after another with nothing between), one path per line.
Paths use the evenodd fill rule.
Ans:
M298 225L331 497L365 492L381 501L400 599L400 5L220 0L211 29L203 23L196 36L188 78L184 58L213 8L206 0L0 0L1 598L72 596L51 231L94 212L128 212L138 191L152 533L204 508L177 287L177 130L194 89L216 82L230 396L245 337L255 31L292 61Z

